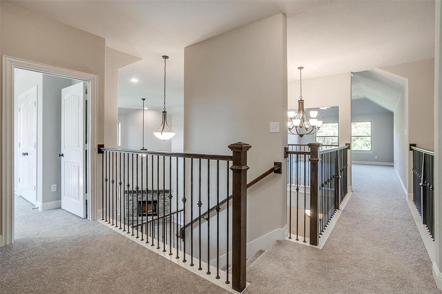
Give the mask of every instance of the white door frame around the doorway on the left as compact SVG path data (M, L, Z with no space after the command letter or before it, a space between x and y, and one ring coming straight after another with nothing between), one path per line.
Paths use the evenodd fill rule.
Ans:
M98 76L3 55L2 103L2 245L14 242L14 70L24 69L88 82L87 215L96 218ZM7 159L7 160L5 160Z

